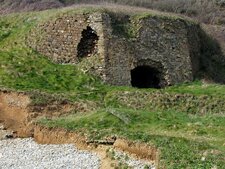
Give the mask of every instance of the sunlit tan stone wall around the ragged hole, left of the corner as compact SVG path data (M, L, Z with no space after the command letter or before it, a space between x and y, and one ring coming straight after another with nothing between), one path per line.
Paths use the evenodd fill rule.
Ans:
M27 37L27 45L41 54L47 56L49 59L59 64L81 64L81 69L90 69L95 74L104 79L104 50L105 50L105 22L107 17L103 13L93 14L64 14L53 20L42 23L30 32ZM87 27L93 29L98 36L95 53L88 55L87 60L98 63L86 63L77 57L78 44L82 38L82 32ZM86 67L88 65L89 67ZM84 70L87 71L87 70Z

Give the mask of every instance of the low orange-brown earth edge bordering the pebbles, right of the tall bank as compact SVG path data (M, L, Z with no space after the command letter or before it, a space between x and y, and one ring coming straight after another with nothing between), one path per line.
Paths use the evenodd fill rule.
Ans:
M90 144L87 139L75 132L68 132L62 129L49 129L36 126L34 129L34 139L40 144L75 144L81 150L89 150L97 153L101 159L101 168L114 168L115 162L108 156L107 152L110 148L120 150L129 154L135 159L144 159L151 163L159 165L159 152L156 148L150 147L142 143L134 143L124 139L115 140L113 145Z

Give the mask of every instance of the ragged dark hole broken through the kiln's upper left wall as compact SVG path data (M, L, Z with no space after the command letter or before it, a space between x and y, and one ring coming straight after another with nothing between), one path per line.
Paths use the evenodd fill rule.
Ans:
M82 31L82 38L77 46L77 57L84 58L96 52L96 44L98 42L98 35L88 26Z

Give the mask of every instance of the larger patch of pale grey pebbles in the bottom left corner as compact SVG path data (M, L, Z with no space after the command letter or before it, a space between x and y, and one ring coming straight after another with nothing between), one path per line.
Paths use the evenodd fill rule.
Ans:
M72 144L40 145L32 138L0 141L0 169L98 169L99 157Z

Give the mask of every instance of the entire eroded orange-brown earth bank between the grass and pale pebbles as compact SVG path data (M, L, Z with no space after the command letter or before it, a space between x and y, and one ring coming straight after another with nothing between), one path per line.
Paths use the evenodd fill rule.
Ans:
M107 156L109 148L119 149L135 158L151 162L159 160L157 149L146 144L133 143L118 138L110 145L103 145L98 142L90 143L80 133L69 132L63 129L49 129L35 124L38 118L61 116L69 113L74 108L77 108L76 104L53 104L45 105L45 107L32 107L29 95L0 91L0 123L3 123L7 129L13 130L14 137L34 137L35 141L40 144L75 144L79 149L97 153L101 157L101 168L113 168L112 164L115 161ZM105 142L103 141L103 143Z

